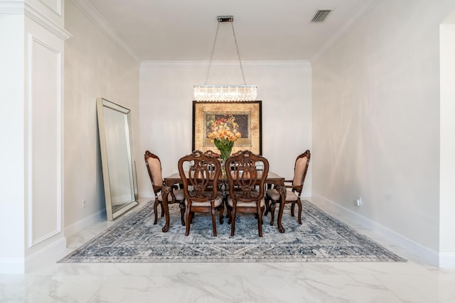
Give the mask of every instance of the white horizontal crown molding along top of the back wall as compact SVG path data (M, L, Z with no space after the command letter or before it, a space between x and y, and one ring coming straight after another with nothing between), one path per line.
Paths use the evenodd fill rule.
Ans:
M144 60L141 62L141 68L207 68L209 61L191 61L191 60ZM238 67L238 61L212 61L212 67ZM242 67L267 67L267 68L311 68L311 64L306 60L275 60L275 61L243 61Z

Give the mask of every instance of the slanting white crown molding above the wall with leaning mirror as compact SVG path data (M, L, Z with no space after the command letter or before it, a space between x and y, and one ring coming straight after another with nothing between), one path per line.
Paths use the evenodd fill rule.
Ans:
M107 35L107 38L119 48L122 48L135 62L140 62L139 57L129 48L122 39L115 33L114 28L109 25L105 18L90 4L87 0L70 0L97 28L100 28L102 33Z

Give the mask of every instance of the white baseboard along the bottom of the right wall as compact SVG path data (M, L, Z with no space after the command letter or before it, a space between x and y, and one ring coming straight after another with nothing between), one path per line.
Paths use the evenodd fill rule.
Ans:
M330 199L326 199L326 197L315 193L313 193L312 197L314 199L311 199L311 202L314 202L314 204L330 204L342 216L346 216L346 218L348 218L350 221L355 222L355 224L359 224L360 226L367 228L369 231L382 236L390 243L400 246L400 248L409 252L409 255L416 256L422 263L440 268L455 267L455 253L438 253L436 250L422 246L422 244L417 243L416 241L413 241L400 233L392 231L390 228L387 228L386 226L383 226L376 221L357 214L354 211L351 211L350 209L347 209L346 207L331 201Z

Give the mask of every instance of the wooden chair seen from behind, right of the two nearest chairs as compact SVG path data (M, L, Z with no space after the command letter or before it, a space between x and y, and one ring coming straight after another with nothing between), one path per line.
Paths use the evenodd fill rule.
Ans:
M258 171L256 163L262 162L263 169ZM225 163L228 184L228 223L231 224L230 236L235 233L237 213L256 214L259 237L262 237L262 212L264 211L264 184L269 172L269 161L243 150L232 155ZM230 172L230 173L229 173Z

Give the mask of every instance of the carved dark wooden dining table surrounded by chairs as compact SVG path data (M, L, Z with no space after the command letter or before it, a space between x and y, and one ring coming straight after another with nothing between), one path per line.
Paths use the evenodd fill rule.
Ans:
M186 172L187 174L187 172ZM257 172L257 179L259 181L260 177L262 176L262 171L258 170ZM164 184L163 189L161 189L161 194L163 195L163 202L162 206L164 209L164 217L166 219L166 224L162 228L162 231L166 233L169 230L170 225L170 218L169 218L169 208L168 208L168 195L171 192L171 189L175 184L182 183L181 175L178 172L169 175L168 177L164 177ZM267 179L265 181L266 184L273 185L275 189L280 194L281 203L279 204L279 211L278 211L278 218L277 218L277 227L280 233L284 233L285 229L282 226L282 216L284 211L284 202L286 201L286 187L284 186L284 177L274 173L268 172ZM221 175L218 179L218 184L220 185L227 185L228 184L228 176ZM265 192L264 192L265 195Z

